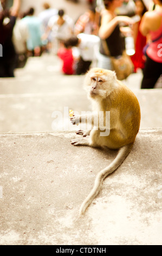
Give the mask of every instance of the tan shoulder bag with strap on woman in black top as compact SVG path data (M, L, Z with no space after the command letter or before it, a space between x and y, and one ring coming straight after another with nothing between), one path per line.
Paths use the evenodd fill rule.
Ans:
M116 77L118 78L118 80L124 80L132 74L134 65L131 58L126 54L125 50L122 52L121 56L113 57L109 52L105 40L102 40L102 46L105 54L111 59L112 68L116 72Z

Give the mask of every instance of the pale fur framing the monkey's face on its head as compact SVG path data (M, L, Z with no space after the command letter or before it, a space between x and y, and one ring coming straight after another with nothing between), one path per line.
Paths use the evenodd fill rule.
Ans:
M97 90L96 97L101 97L101 99L106 98L112 90L115 88L115 84L117 81L115 71L101 69L101 68L92 68L90 69L86 76L85 81L83 83L83 88L87 91L88 97L91 97L89 92L92 86L92 78L100 77L102 82L99 84ZM117 84L116 84L117 85Z

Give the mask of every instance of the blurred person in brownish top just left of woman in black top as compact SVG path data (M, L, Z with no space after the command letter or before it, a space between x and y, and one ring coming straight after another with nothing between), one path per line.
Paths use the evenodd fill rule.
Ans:
M96 11L95 8L89 8L86 13L82 14L76 21L74 26L74 34L98 34L98 23L96 22Z

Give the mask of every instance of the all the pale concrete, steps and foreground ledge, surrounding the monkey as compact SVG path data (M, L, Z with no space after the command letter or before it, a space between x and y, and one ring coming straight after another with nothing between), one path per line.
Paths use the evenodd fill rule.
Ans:
M162 244L162 90L140 90L140 73L125 81L140 102L137 140L78 218L96 174L117 154L74 147L74 131L52 127L55 111L90 110L83 78L63 76L46 55L0 78L0 245Z

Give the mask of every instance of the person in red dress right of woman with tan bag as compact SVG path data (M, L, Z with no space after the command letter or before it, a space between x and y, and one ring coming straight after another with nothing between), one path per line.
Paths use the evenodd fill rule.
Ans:
M142 35L139 31L139 26L142 16L146 13L147 8L142 0L135 0L135 15L138 15L139 21L135 22L133 25L133 38L135 53L131 56L132 62L134 64L134 72L137 72L138 69L144 69L145 58L143 49L146 45L146 36Z

